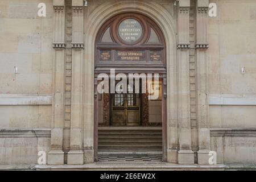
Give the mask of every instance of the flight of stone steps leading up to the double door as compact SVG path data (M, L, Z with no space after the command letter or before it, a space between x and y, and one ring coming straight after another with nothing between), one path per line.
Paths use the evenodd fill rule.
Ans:
M162 151L162 127L99 127L99 152Z

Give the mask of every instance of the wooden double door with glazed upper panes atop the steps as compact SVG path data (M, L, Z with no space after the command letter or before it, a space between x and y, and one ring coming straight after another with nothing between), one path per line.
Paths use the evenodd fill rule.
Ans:
M112 126L139 126L140 94L112 94Z

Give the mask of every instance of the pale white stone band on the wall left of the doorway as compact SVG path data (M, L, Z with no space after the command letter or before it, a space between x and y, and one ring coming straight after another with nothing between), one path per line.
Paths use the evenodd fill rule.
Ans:
M52 105L52 96L0 94L0 105Z

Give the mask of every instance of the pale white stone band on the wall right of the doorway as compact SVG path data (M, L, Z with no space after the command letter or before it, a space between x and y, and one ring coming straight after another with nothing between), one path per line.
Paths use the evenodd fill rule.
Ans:
M210 95L209 105L256 105L255 95Z

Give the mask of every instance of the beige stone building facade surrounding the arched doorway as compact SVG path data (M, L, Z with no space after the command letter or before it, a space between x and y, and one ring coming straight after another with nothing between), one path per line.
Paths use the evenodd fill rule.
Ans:
M1 165L37 164L39 151L48 166L97 162L98 123L111 108L101 107L97 94L96 77L105 67L96 64L96 44L105 44L96 39L113 17L126 15L151 26L147 40L153 31L163 40L144 46L161 49L159 69L147 61L122 69L161 73L159 113L150 104L145 112L161 123L163 161L208 166L209 152L216 151L217 165L256 163L254 0L86 2L0 2ZM39 3L46 4L45 17L38 16ZM209 3L217 5L216 17L208 15ZM111 41L118 42L114 32ZM117 42L113 49L132 46Z

